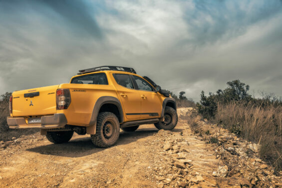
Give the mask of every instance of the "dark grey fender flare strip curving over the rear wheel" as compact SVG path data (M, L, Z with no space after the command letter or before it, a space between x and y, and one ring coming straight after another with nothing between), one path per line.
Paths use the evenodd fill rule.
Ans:
M120 115L119 123L123 123L123 110L120 101L116 97L103 96L98 98L98 100L94 105L90 122L86 127L87 134L91 134L91 135L96 134L96 122L97 122L98 113L104 104L114 104L115 106L117 106Z

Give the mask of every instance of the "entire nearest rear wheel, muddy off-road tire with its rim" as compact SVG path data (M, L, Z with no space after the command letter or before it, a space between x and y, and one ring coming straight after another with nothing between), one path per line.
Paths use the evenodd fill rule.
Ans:
M119 138L119 129L119 121L116 115L111 112L101 112L97 118L96 134L91 135L91 140L97 147L111 147Z

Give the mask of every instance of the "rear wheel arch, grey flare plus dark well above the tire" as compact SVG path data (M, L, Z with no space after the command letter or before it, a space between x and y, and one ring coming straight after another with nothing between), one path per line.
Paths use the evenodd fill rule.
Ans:
M100 112L112 112L117 116L119 123L123 123L123 111L120 101L116 97L103 96L94 105L89 125L86 127L87 134L96 134L96 122Z

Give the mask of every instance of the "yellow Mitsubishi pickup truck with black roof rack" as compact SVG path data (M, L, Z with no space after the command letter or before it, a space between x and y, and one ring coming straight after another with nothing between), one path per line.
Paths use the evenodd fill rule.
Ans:
M114 145L120 129L135 131L154 124L172 130L178 121L175 100L133 68L100 66L79 70L70 83L14 91L10 96L11 129L40 128L55 144L73 132L90 134L93 144Z

